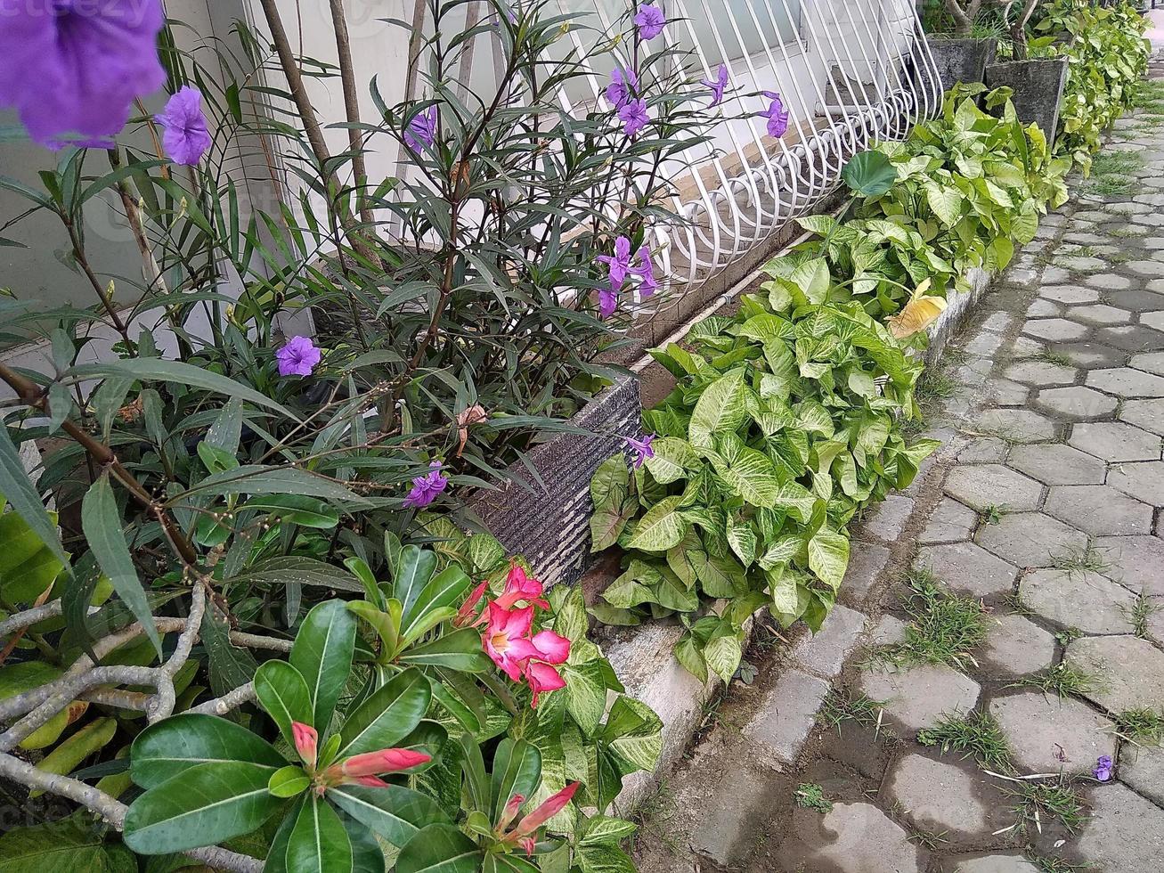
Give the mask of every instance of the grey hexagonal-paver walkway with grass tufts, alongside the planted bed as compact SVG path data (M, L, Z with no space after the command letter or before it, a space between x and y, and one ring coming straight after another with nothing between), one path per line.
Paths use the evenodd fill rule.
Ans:
M759 631L641 870L1164 870L1162 125L1117 123L927 376L943 449L822 633Z

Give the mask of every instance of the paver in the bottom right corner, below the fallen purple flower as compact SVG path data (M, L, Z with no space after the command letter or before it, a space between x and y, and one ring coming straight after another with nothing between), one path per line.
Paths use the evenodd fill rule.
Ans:
M1164 809L1116 782L1087 792L1091 817L1076 849L1103 873L1147 873L1164 858Z

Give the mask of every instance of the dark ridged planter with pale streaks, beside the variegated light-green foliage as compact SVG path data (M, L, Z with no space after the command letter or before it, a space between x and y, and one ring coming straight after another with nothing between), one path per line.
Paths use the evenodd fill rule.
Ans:
M643 427L639 381L624 376L599 392L569 424L587 434L563 433L538 443L516 463L501 490L480 491L468 509L510 554L524 555L547 585L573 583L590 562L590 480L598 466L622 452L622 436ZM528 490L521 482L528 483Z

